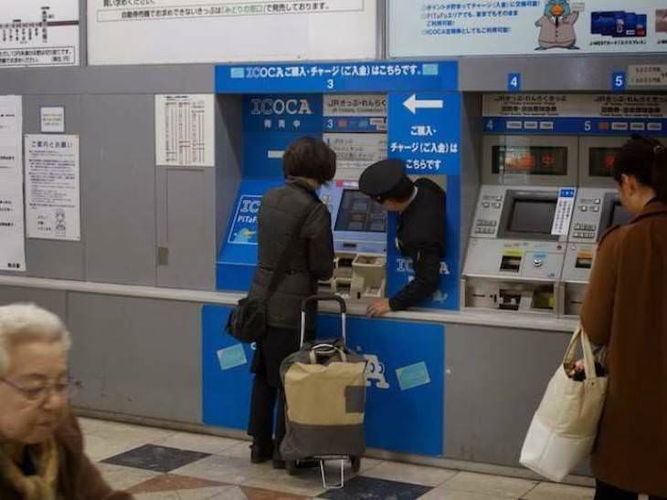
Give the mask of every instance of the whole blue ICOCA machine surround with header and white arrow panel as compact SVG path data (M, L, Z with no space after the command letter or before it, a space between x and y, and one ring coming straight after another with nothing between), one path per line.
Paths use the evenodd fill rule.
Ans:
M365 166L406 161L447 190L447 255L441 286L422 307L459 307L461 96L455 62L219 66L219 94L243 94L242 177L217 259L218 289L245 291L257 265L261 196L283 182L282 155L312 136L337 155L321 199L332 215L335 273L323 291L355 300L391 297L414 278L398 255L396 214L358 190Z

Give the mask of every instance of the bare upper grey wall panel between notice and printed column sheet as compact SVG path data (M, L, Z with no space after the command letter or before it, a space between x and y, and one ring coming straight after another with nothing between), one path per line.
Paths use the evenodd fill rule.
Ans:
M155 285L154 99L84 96L86 279Z

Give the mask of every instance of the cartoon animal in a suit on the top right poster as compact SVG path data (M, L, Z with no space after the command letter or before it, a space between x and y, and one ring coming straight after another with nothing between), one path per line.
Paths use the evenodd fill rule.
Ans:
M549 48L568 48L578 50L575 23L579 18L577 11L570 9L569 0L546 0L545 15L540 17L535 26L540 27L535 50Z

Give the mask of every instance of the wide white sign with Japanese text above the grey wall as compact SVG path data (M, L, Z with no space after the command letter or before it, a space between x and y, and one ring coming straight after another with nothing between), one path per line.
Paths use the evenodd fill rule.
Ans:
M88 0L91 65L370 59L377 0Z

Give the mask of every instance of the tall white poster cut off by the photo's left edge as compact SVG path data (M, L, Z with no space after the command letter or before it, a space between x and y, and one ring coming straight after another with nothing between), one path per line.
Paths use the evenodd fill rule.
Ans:
M0 96L0 271L26 270L22 131L21 97Z

